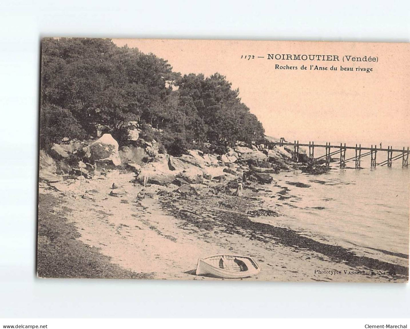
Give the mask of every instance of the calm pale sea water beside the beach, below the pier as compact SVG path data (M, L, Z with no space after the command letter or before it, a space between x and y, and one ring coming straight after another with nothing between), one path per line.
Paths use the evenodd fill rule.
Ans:
M266 198L278 205L283 216L265 220L360 255L407 265L410 167L401 168L398 160L392 168L371 169L370 159L362 160L362 167L367 168L339 169L334 164L329 174L275 175L278 185L289 188L285 194L289 199ZM292 182L310 187L296 187Z

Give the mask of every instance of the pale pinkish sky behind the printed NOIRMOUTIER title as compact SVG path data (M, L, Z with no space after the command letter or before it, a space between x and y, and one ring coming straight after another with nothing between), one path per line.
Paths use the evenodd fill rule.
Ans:
M253 114L266 135L299 142L400 142L410 146L409 44L287 41L114 39L168 60L174 71L219 72ZM338 55L340 61L267 59L267 54ZM255 55L255 59L241 59ZM344 55L378 57L378 62L342 62ZM264 58L257 58L264 56ZM298 66L297 70L275 69ZM301 70L334 65L337 71ZM339 71L369 67L370 73Z

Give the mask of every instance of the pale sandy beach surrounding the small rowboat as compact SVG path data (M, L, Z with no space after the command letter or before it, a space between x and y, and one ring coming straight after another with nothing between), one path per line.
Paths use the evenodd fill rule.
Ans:
M357 275L360 282L408 280L408 267L358 256L341 246L258 221L260 215L278 211L257 195L268 185L248 182L242 196L232 196L233 190L227 190L226 183L206 180L191 185L198 195L180 195L173 184L144 187L133 180L134 173L113 170L96 179L84 179L82 187L78 180L65 180L58 185L60 191L44 187L40 194L69 201L63 217L77 227L81 235L77 240L98 248L109 264L136 277L221 280L192 275L198 258L244 254L255 258L262 268L256 277L244 280L358 282ZM126 193L111 196L113 182ZM282 189L278 187L278 191ZM39 199L40 209L41 202ZM39 225L42 220L39 212ZM329 277L315 270L381 273Z

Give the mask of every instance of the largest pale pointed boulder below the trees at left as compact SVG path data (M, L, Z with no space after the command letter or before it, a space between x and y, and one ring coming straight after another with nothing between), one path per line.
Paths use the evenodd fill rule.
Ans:
M111 161L115 166L121 165L118 142L111 134L104 134L84 151L91 161Z

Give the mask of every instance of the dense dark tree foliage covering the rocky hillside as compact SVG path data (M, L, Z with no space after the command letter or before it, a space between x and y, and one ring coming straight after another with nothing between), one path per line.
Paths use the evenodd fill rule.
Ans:
M124 144L130 121L174 154L251 142L264 129L238 94L219 73L181 76L164 59L109 39L43 39L41 142L95 136L103 125Z

